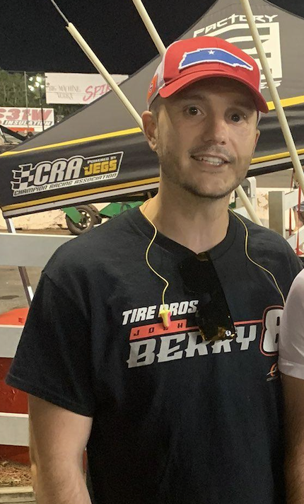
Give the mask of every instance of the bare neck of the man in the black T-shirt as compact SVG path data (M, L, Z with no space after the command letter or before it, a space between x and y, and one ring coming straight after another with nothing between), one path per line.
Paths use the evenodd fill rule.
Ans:
M178 197L180 196L180 197ZM141 207L158 231L195 253L210 250L226 236L229 197L207 200L180 191L160 188L158 195Z

